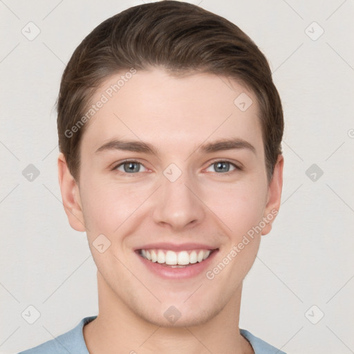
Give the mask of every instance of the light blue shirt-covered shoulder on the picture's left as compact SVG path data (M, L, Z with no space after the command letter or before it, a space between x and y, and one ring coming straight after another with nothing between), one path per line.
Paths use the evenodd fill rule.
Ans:
M18 354L88 354L82 328L96 316L85 317L72 330Z

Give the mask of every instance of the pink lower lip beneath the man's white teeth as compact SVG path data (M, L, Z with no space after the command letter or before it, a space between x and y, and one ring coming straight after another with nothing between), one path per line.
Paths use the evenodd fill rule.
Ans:
M201 262L194 263L192 265L187 265L185 268L172 268L171 266L161 265L157 262L151 262L147 259L140 256L137 253L137 256L140 258L142 263L153 273L165 279L188 279L192 277L197 277L202 272L208 268L212 259L214 259L218 250L214 250L212 254L209 255L207 259Z

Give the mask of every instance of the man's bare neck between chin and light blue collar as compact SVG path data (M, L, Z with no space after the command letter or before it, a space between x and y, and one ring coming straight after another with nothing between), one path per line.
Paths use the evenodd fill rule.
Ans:
M90 353L254 353L239 333L240 286L220 312L198 326L162 327L134 313L97 272L99 315L84 326Z

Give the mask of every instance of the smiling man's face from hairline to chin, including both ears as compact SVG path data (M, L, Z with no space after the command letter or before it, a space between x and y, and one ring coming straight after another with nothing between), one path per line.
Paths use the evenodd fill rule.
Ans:
M241 291L277 214L282 160L268 183L259 106L240 84L156 68L109 97L120 75L93 97L108 100L86 123L78 183L59 157L66 212L111 306L159 326L201 324Z

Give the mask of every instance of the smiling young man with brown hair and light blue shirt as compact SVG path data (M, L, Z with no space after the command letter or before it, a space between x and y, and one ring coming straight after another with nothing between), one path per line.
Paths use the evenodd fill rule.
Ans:
M129 8L77 47L57 109L99 314L23 353L283 353L239 329L283 169L281 101L252 40L189 3Z

